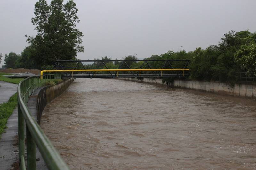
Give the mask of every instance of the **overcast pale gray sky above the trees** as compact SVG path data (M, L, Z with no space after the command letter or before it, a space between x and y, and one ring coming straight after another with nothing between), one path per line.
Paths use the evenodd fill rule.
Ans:
M74 0L83 32L79 59L138 58L217 44L224 33L256 31L256 0ZM0 53L20 53L36 35L36 0L0 1ZM50 3L50 0L47 1ZM66 1L64 1L66 2ZM3 59L4 60L4 57ZM4 62L0 64L2 66Z

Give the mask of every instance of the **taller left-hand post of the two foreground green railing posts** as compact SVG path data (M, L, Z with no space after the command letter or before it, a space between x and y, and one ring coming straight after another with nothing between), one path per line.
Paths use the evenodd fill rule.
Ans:
M23 119L22 111L20 110L20 104L18 102L18 137L19 137L19 168L22 170L25 165L25 122Z

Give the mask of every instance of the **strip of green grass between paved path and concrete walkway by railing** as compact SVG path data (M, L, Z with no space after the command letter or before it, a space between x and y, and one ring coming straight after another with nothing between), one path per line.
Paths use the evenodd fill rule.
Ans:
M0 138L4 129L7 128L6 123L8 118L12 115L13 110L17 106L17 93L10 97L8 102L0 104Z

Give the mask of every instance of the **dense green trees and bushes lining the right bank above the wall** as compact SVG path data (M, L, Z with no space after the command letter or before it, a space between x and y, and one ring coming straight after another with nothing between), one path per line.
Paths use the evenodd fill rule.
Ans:
M247 31L230 31L221 38L217 45L206 49L196 48L193 52L168 51L161 55L152 55L147 59L189 59L191 63L190 79L201 81L221 81L230 84L240 80L238 72L256 75L256 33ZM153 68L160 68L162 63L152 62ZM184 63L173 63L181 68ZM166 66L167 67L167 66ZM171 81L172 79L163 79Z

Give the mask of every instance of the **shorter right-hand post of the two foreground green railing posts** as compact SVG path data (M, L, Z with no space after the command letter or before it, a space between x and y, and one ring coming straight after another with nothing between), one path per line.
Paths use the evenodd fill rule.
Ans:
M26 135L27 135L27 166L28 169L36 169L36 143L26 126Z

